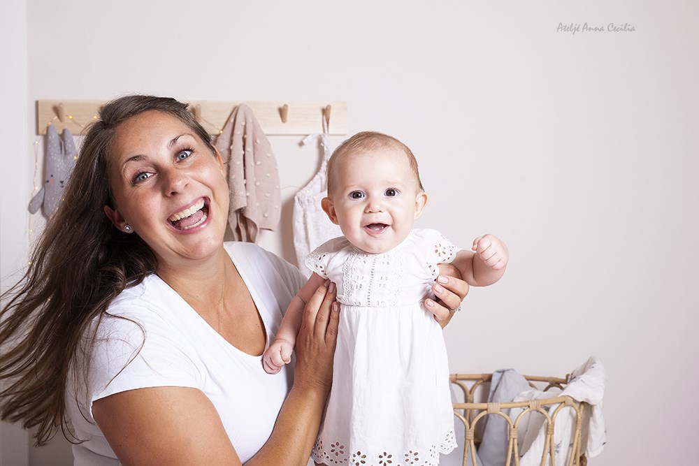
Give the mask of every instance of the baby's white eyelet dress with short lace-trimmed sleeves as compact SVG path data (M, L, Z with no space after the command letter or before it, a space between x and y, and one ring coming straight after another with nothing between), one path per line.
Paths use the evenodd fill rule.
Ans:
M326 465L439 464L456 447L442 328L423 301L458 249L435 230L366 254L335 238L306 265L338 287L333 388L312 452Z

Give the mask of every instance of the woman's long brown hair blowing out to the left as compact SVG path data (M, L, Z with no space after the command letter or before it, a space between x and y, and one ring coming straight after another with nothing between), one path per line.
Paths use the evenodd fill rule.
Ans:
M78 351L90 360L92 321L157 268L145 242L114 228L103 212L104 205L114 207L108 161L115 129L147 110L177 117L210 145L187 104L175 99L125 96L104 105L87 130L64 199L31 252L27 271L0 297L6 303L0 311L0 382L6 385L0 417L36 428L37 445L59 428L75 439L64 418L71 360ZM88 368L81 370L86 377Z

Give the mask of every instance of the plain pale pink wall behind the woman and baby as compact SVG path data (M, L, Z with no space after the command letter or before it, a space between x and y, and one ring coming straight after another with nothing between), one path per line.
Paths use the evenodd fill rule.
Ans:
M452 371L565 375L597 355L610 374L610 438L591 464L684 464L693 453L699 3L26 6L30 120L36 99L131 92L346 100L352 133L384 131L415 152L430 194L419 226L466 247L482 233L510 246L505 278L473 290L445 331ZM581 31L557 31L571 23ZM18 154L27 179L13 181L22 192L31 125ZM271 138L285 210L261 239L289 261L291 199L319 162L300 139ZM3 196L3 228L22 236L25 219L6 217L12 202Z

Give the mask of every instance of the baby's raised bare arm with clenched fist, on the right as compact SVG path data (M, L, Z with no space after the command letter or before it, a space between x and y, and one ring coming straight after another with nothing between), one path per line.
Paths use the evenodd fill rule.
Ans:
M505 274L510 252L504 242L493 235L482 235L473 240L471 249L475 253L459 251L453 262L466 283L471 286L488 286Z

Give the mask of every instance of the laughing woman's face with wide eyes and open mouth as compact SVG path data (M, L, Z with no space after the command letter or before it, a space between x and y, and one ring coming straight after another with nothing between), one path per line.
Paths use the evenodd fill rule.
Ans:
M159 267L208 259L222 243L229 191L220 156L176 117L150 110L120 124L109 161L117 228L130 225Z

